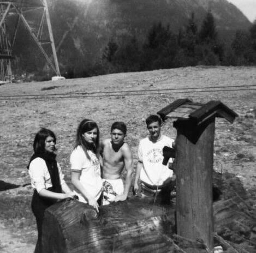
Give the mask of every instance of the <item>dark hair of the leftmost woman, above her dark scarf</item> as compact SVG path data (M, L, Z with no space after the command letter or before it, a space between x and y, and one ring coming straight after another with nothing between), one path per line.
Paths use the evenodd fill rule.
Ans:
M56 143L56 136L53 131L41 128L34 138L33 149L35 154L44 153L45 152L45 140L48 136L53 138L53 141Z

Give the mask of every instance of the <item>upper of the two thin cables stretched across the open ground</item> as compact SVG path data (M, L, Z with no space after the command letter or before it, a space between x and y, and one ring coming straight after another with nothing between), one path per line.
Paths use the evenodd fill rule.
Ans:
M0 98L20 98L20 97L53 97L62 95L92 95L92 94L112 94L112 93L128 93L128 92L162 92L162 91L183 91L187 89L217 89L217 88L240 88L240 87L254 87L256 85L237 85L237 86L217 86L217 87L190 87L190 88L171 88L171 89L134 89L126 91L109 91L109 92L75 92L75 93L53 93L53 94L31 94L31 95L3 95Z

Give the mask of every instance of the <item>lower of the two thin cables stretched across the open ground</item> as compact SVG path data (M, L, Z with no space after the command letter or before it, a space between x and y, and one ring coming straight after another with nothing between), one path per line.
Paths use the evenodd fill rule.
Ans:
M214 91L180 91L180 92L165 92L164 94L178 94L178 93L202 93L202 92L231 92L231 91L254 91L256 90L256 88L248 88L248 89L218 89L218 90L214 90ZM145 90L146 91L146 90ZM41 95L41 97L34 97L34 98L0 98L0 100L38 100L38 99L62 99L62 98L100 98L100 97L116 97L116 96L122 96L122 97L126 97L126 96L136 96L136 95L159 95L159 94L163 94L161 92L153 92L153 93L137 93L137 94L105 94L105 95L80 95L80 94L74 94L74 95L70 95L70 96L59 96L59 97L49 97L47 95Z

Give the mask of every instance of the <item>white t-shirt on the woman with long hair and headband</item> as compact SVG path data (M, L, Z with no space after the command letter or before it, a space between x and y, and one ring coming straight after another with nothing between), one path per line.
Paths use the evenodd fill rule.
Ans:
M91 150L87 150L88 155L91 160L86 157L86 154L81 146L75 148L70 155L71 170L81 171L80 182L86 189L90 192L92 196L98 200L100 194L102 193L102 178L100 177L100 163L96 154ZM85 198L76 192L78 195L79 201L87 203Z

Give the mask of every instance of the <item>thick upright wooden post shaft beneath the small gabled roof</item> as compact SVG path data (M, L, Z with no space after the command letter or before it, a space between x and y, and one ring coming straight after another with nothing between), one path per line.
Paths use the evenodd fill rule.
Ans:
M176 138L176 226L178 236L213 248L212 169L215 117L200 124L174 122ZM186 252L194 252L193 249Z

